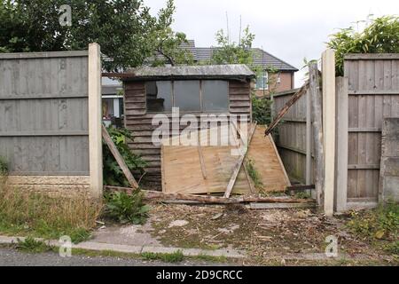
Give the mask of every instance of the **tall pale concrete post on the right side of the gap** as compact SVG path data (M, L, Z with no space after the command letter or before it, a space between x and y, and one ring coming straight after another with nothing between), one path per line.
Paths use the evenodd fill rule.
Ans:
M335 52L322 56L323 136L325 145L325 215L332 216L335 190Z

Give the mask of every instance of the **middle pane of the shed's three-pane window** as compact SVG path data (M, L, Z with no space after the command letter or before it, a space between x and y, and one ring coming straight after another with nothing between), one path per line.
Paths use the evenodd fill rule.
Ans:
M200 111L200 81L175 81L175 106L180 111Z

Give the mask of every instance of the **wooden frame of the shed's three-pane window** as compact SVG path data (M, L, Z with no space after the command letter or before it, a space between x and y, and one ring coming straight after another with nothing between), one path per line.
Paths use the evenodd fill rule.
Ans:
M168 81L168 80L157 80L153 82L160 82L160 81ZM230 81L228 80L209 80L209 79L200 79L200 80L170 80L168 82L171 83L171 96L172 96L172 108L177 107L175 106L176 99L175 99L175 82L176 81L199 81L200 82L200 110L193 110L193 111L180 111L180 114L229 114L230 113ZM203 100L203 91L202 91L202 82L203 81L223 81L227 83L227 109L226 110L215 110L215 111L204 111L204 100ZM149 82L149 81L147 81ZM153 111L148 111L147 107L147 88L146 88L146 83L145 82L145 113L146 114L171 114L171 111L165 111L165 112L153 112Z

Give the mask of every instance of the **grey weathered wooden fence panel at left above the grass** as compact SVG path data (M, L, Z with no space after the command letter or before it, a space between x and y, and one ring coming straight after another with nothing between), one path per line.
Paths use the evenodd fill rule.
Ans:
M88 52L0 54L0 155L12 175L89 176Z

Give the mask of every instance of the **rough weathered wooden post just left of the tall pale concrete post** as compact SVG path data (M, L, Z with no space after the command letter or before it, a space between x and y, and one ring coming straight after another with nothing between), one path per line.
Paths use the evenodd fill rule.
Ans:
M323 153L323 122L322 122L322 101L320 96L320 83L317 63L309 64L309 97L311 99L313 114L313 145L315 147L315 185L317 205L324 204L324 183L325 183L325 160Z

